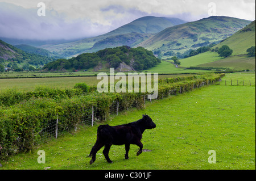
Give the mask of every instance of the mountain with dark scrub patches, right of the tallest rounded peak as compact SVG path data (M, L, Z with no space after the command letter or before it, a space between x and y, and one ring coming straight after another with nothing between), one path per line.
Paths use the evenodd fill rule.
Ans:
M230 18L227 16L210 16L195 22L179 24L160 31L142 43L136 45L159 53L170 50L184 53L189 49L197 49L221 40L241 30L249 20Z

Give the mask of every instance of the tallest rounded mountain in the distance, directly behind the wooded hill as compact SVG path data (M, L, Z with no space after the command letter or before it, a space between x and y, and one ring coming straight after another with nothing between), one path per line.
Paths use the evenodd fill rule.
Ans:
M185 23L185 21L178 18L144 16L104 35L73 41L71 43L43 45L42 48L50 51L54 50L64 57L71 57L85 52L96 52L100 49L122 45L134 47L159 31L164 30L164 28L182 23Z

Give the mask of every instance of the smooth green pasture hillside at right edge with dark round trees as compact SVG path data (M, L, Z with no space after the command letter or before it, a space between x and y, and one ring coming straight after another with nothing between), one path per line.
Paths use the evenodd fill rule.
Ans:
M232 56L222 58L217 52L212 51L222 45L228 45L233 50ZM246 27L234 33L221 43L212 47L205 53L181 59L181 67L200 68L229 68L236 70L255 70L255 57L247 56L246 50L255 46L255 20Z

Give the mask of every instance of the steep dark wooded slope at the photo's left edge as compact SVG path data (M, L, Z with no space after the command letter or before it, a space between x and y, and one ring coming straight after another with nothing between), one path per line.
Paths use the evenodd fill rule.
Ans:
M42 56L40 54L26 53L23 50L0 40L0 64L11 70L28 70L30 66L39 68L53 60L56 60L56 58Z

